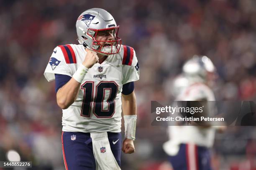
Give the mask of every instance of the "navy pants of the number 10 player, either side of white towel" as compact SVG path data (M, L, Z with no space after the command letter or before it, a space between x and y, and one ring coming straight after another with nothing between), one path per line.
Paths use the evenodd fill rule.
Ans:
M95 170L96 163L92 151L92 138L90 138L90 133L62 132L61 138L66 170ZM115 160L120 166L122 147L121 133L108 132L108 140Z

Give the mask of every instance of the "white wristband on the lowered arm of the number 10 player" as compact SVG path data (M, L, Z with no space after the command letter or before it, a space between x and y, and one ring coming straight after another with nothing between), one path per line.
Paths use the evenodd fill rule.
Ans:
M137 115L124 115L125 138L135 140Z

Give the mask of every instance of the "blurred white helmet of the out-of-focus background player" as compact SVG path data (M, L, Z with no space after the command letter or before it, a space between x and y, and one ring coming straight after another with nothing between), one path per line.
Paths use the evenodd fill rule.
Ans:
M216 75L216 68L206 56L194 55L182 67L184 75L206 82ZM212 76L210 76L212 75Z

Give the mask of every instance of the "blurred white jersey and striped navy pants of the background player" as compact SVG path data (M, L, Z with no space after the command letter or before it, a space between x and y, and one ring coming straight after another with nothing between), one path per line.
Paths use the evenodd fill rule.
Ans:
M210 88L202 83L185 87L177 101L214 101ZM208 103L209 104L209 103ZM207 115L205 115L207 117ZM169 141L164 143L164 151L174 170L210 170L211 158L208 148L212 147L215 137L214 128L200 126L169 126Z

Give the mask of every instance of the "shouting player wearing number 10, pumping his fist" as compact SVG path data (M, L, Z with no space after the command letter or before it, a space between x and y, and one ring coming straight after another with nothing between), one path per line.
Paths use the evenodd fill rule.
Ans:
M135 151L136 53L121 45L119 26L106 10L84 11L76 28L79 45L57 46L44 72L48 81L55 79L56 100L63 112L65 168L119 170L121 150Z

